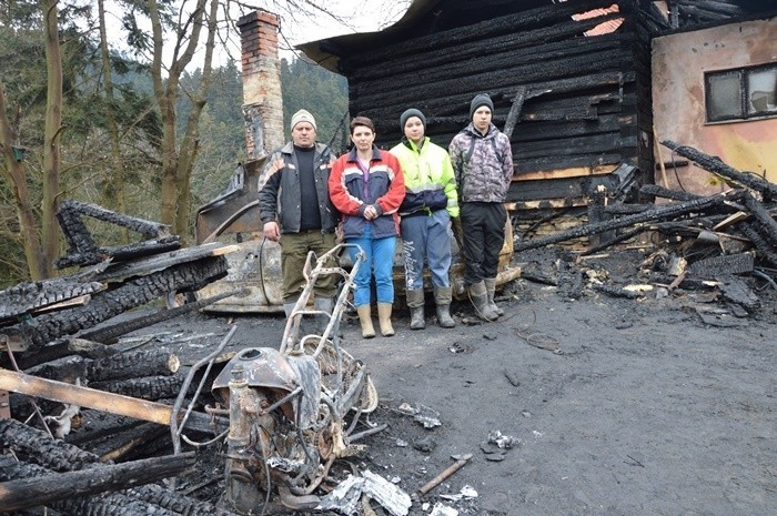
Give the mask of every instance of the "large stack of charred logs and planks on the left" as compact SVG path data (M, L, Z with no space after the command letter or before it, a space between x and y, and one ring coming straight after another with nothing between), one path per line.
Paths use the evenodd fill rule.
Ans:
M0 448L13 457L0 455L0 507L46 504L62 514L230 514L155 486L139 487L194 465L192 454L159 456L173 453L175 437L167 424L178 421L174 402L190 399L196 384L174 353L120 346L118 338L218 301L159 307L161 300L223 277L231 247L213 243L181 249L179 237L162 224L75 201L62 202L58 219L68 251L56 266L77 271L0 292L0 393L11 391L10 399L0 396ZM93 231L104 225L140 240L100 246ZM141 306L152 310L125 314ZM89 417L101 421L97 431L71 432ZM208 419L193 413L189 428L214 431ZM114 461L124 464L104 465ZM90 496L109 490L118 493Z

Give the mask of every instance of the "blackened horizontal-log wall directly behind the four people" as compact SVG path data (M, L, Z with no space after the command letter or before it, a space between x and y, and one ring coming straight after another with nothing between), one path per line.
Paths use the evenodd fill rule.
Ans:
M637 163L634 32L622 12L606 10L612 0L487 0L467 8L474 3L441 2L394 41L342 57L351 115L372 118L376 143L390 148L402 136L400 114L416 107L427 134L447 146L468 123L475 94L492 95L501 129L523 95L508 201L584 205L595 182L588 179ZM531 3L541 7L525 10ZM574 19L588 11L591 18ZM618 29L585 36L602 24Z

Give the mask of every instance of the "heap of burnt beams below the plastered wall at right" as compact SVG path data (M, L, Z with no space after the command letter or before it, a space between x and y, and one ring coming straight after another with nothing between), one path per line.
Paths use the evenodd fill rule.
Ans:
M599 219L589 217L587 224L543 237L516 235L515 251L587 237L591 245L578 256L592 256L640 235L649 235L649 246L657 251L642 264L648 282L669 291L716 290L726 302L741 307L740 315L757 311L756 291L777 290L777 184L738 171L692 146L669 140L663 144L722 178L729 189L700 196L644 185L642 194L659 200L655 204L606 205L606 193L593 195L589 209L598 205ZM529 269L524 269L522 276L558 284L558 277L535 274ZM582 286L578 285L578 291ZM623 289L625 285L597 282L592 286L624 297L644 295Z

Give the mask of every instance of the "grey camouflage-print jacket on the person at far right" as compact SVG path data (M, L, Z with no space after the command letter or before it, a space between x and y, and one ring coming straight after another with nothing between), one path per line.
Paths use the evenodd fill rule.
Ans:
M505 202L513 150L496 125L483 135L471 123L453 138L448 153L462 202Z

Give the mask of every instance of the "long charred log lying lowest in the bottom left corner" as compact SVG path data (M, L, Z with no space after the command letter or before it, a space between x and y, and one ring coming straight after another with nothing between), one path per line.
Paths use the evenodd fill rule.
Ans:
M176 476L194 465L194 452L68 473L50 473L41 466L17 463L10 457L0 457L0 464L4 480L17 478L0 484L0 506L6 510L18 510Z

